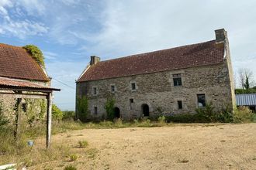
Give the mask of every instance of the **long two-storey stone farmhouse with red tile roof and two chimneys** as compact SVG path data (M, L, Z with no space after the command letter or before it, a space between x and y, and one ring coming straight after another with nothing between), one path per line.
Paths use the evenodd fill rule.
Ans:
M115 116L123 119L195 113L212 102L233 108L233 71L225 29L216 39L116 59L91 61L77 80L76 98L88 98L90 117L106 114L109 97Z

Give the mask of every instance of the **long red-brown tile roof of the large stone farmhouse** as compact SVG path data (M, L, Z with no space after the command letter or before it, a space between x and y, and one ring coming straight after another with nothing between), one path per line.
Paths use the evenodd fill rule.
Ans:
M90 66L78 82L212 65L223 62L223 56L223 43L213 40L102 61Z

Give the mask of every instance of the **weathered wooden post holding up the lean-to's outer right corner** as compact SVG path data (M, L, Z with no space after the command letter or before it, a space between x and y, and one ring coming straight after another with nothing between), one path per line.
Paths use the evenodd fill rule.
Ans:
M52 93L47 95L47 148L50 148Z

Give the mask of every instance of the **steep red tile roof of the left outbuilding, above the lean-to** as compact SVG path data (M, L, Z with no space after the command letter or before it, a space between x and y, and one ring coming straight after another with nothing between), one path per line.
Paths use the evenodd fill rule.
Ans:
M0 43L0 76L49 81L42 68L26 49Z

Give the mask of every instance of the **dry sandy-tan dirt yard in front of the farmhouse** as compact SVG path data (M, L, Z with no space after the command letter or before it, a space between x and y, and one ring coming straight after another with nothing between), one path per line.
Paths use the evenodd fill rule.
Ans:
M88 148L77 148L81 140ZM56 134L52 142L70 145L78 160L32 169L256 169L256 124L85 129Z

